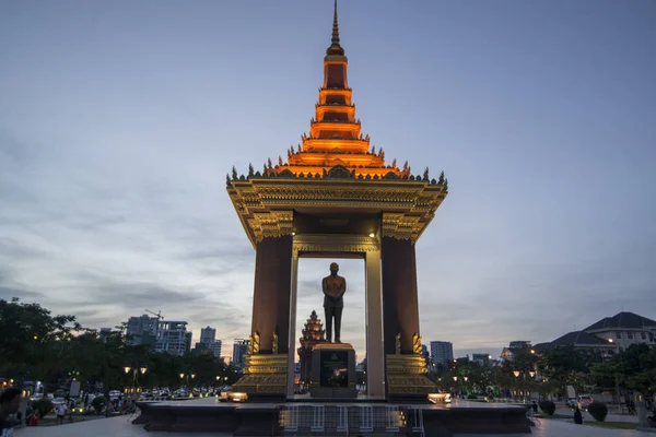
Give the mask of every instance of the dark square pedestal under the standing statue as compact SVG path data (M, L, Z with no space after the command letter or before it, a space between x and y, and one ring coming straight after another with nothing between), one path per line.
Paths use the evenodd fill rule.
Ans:
M319 343L312 351L309 394L321 399L355 399L355 351L349 343Z

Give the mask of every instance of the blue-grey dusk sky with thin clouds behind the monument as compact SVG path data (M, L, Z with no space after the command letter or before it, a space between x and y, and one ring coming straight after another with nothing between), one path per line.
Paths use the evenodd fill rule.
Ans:
M341 0L363 133L449 179L417 244L422 336L495 356L656 318L656 2ZM250 329L225 174L309 129L331 0L0 3L0 298L87 327ZM297 334L331 259L302 260ZM364 356L364 262L342 341Z

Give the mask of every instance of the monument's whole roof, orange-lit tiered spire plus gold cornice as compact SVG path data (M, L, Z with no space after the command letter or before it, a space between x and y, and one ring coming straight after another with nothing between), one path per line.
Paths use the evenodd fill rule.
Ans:
M273 164L269 158L261 173L250 166L243 176L233 168L227 177L227 191L254 248L266 237L318 227L326 234L382 231L414 243L446 197L444 174L430 178L426 168L413 176L407 162L401 168L396 160L387 164L385 152L376 152L368 134L362 135L347 73L336 11L309 134L286 151L286 161L279 156ZM327 224L340 217L347 220L341 226ZM368 222L378 224L367 227Z

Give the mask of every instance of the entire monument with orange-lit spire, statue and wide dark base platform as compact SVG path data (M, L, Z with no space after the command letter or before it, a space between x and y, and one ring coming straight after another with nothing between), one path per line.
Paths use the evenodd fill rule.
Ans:
M153 432L235 436L387 434L390 429L429 436L530 433L527 405L419 404L427 401L429 393L434 399L436 387L425 375L421 355L415 244L446 198L448 184L444 173L432 178L426 168L412 175L407 162L399 167L396 160L386 162L382 149L376 151L355 118L336 4L309 134L286 151L286 161L268 160L261 172L250 165L245 175L233 167L227 176L227 192L256 250L250 344L244 377L233 385L232 393L233 400L248 402L139 402L141 415L134 424ZM325 305L330 316L326 322L332 323L330 339L347 342L314 345L311 392L319 402L286 402L294 389L297 273L298 259L304 257L364 260L364 400L353 400L350 354L354 352L349 339L341 336L341 308L330 300ZM325 295L340 296L345 280L341 287L331 276ZM317 304L319 298L317 290ZM348 402L330 402L339 399ZM250 404L258 400L274 402ZM399 400L403 402L395 402Z

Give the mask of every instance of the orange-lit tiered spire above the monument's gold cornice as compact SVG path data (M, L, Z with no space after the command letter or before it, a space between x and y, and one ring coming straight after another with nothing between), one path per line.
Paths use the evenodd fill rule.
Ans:
M348 67L349 59L339 40L335 0L332 39L324 57L324 84L319 88L315 117L309 123L309 135L304 133L302 144L288 151L288 162L280 157L278 165L266 165L268 175L291 173L317 177L336 166L342 166L354 177L363 179L383 178L390 173L396 178L410 175L410 168L399 169L396 160L393 165L385 165L383 150L377 153L375 146L370 150L370 137L362 135L360 120L355 118Z

